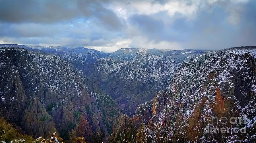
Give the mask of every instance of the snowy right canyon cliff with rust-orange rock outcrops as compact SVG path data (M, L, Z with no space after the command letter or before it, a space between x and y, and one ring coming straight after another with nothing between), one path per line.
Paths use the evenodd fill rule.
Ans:
M136 110L136 142L255 142L255 48L183 63L170 86Z

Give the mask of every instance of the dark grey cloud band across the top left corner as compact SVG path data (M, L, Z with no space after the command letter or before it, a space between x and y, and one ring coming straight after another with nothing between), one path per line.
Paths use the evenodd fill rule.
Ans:
M121 19L97 1L23 0L0 1L0 21L11 23L56 23L73 19L92 19L106 28L120 30Z

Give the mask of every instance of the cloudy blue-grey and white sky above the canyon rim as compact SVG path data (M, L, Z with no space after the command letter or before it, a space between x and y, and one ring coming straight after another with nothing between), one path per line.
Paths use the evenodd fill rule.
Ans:
M0 0L0 43L104 52L256 45L256 0Z

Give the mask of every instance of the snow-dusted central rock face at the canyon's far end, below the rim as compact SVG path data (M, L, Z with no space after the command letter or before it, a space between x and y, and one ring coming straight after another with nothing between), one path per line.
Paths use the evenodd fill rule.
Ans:
M168 86L176 63L168 56L137 53L130 61L100 58L94 63L91 78L115 99L119 108L132 114L137 106Z

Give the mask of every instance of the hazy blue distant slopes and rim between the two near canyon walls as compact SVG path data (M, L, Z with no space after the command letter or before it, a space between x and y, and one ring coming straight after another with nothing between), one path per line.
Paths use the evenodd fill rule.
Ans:
M120 109L131 115L139 104L152 100L156 91L168 87L180 62L204 52L126 48L106 54L83 47L29 48L54 53L72 62L86 77L96 81L96 88L109 94Z

